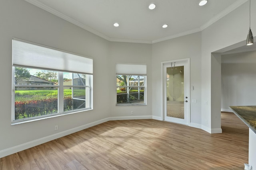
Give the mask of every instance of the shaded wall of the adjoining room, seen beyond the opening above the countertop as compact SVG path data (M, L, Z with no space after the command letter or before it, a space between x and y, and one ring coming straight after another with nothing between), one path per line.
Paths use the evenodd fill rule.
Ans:
M256 51L222 55L222 111L256 105Z

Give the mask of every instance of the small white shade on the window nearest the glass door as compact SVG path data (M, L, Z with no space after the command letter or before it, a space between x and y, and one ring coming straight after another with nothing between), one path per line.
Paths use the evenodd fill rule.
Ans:
M117 63L116 74L120 75L146 75L147 65L146 64L127 64Z

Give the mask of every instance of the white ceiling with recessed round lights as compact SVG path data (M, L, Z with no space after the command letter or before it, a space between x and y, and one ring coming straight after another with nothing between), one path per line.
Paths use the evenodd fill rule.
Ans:
M156 43L202 31L247 0L209 0L205 6L199 0L25 1L109 41Z

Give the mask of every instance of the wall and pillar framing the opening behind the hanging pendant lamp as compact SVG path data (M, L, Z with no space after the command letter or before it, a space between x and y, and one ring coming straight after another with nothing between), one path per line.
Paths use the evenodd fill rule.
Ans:
M219 55L212 55L212 52L223 49L232 49L235 44L245 40L249 26L249 2L244 3L222 19L213 23L202 31L202 127L211 132L221 131L220 101L221 85L220 72L212 72L214 67L220 68L221 62L213 62L212 57L219 58ZM256 3L251 3L251 9L256 8ZM256 30L256 11L251 11L252 31ZM216 59L218 61L219 59ZM216 80L216 81L215 81ZM212 88L214 87L214 88ZM218 95L212 95L218 93ZM204 102L208 101L208 105ZM212 106L212 107L211 107ZM218 106L218 107L215 107ZM208 124L206 123L208 122ZM214 132L212 131L212 132Z

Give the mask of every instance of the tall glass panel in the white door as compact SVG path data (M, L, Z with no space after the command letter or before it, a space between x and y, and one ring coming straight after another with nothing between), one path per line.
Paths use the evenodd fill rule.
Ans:
M184 66L166 68L166 113L184 119Z

